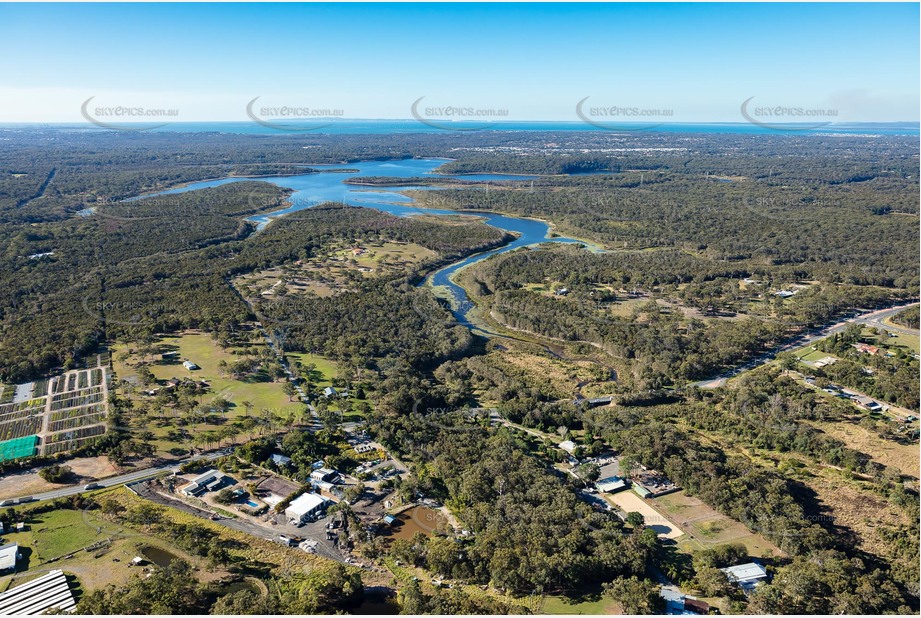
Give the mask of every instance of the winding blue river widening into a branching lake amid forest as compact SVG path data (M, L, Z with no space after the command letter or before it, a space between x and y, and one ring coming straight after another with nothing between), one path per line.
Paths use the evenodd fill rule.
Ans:
M349 163L347 165L311 165L311 168L322 170L319 174L305 174L303 176L266 176L261 178L222 178L219 180L206 180L194 182L174 189L167 189L157 193L139 196L134 199L143 199L156 195L169 195L173 193L184 193L186 191L195 191L207 187L217 187L231 182L240 182L243 180L259 180L271 182L280 187L292 189L293 193L288 198L291 204L288 208L278 210L268 214L261 214L251 217L249 220L257 224L258 229L262 229L272 219L282 217L286 214L310 208L324 202L342 202L352 206L364 206L382 210L399 217L408 217L414 215L470 215L474 214L483 219L489 225L512 232L517 238L497 249L484 251L475 255L468 256L462 260L449 264L440 270L435 271L426 279L426 283L446 289L451 295L451 312L454 318L461 324L471 327L467 319L467 313L472 308L472 303L467 298L467 293L462 287L454 283L453 275L460 269L469 266L480 260L484 260L497 253L512 251L520 247L538 245L546 242L556 243L575 243L586 245L584 241L575 238L566 238L562 236L549 237L549 226L543 221L534 219L523 219L520 217L511 217L485 212L463 212L457 210L419 208L412 198L401 194L401 191L409 189L433 190L437 187L420 187L414 186L407 182L406 185L392 185L387 187L375 187L369 189L358 185L348 185L343 181L355 176L389 176L393 178L413 178L426 175L435 175L434 170L446 163L446 159L403 159L400 161L362 161L358 163ZM442 176L441 178L462 178L464 180L491 181L491 180L530 180L535 176L511 176L501 174L465 174L463 176Z

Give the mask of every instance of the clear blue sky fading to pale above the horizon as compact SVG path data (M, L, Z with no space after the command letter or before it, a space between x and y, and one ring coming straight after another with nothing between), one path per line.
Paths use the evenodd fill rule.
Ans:
M917 4L0 4L0 121L260 104L576 120L578 101L741 122L762 105L917 121Z

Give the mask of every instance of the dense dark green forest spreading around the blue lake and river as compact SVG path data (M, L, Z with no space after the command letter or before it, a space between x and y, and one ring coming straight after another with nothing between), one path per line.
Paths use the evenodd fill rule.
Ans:
M361 386L371 402L369 431L409 466L396 482L400 491L439 500L469 532L457 541L435 535L369 551L518 597L594 586L637 611L656 609L633 597L663 573L739 612L917 611L918 480L833 429L859 426L874 445L911 440L808 389L795 363L761 367L715 389L693 384L856 311L917 299L916 141L118 133L0 131L0 381L73 366L115 341L187 329L219 337L258 318L282 352L332 359L344 383ZM476 305L472 319L494 335L485 337L452 319L424 281L508 243L507 232L476 219L400 218L339 203L264 229L247 220L282 208L289 196L259 176L412 157L450 159L445 173L536 176L434 177L427 183L437 188L412 193L422 206L549 221L554 233L600 251L525 248L461 271L457 282ZM123 201L229 176L251 178ZM408 182L423 184L353 181ZM233 285L235 277L307 260L333 242L371 241L414 243L435 257L396 275L356 277L327 296L249 302ZM917 310L895 321L917 328ZM844 347L837 353L844 356ZM910 365L891 363L872 367L885 379L871 394L917 409ZM542 367L569 373L557 380ZM564 384L571 376L578 384ZM586 384L613 404L582 405ZM469 408L488 408L512 425L431 412ZM714 586L712 552L689 556L642 518L622 521L594 509L579 494L586 483L557 467L564 455L546 436L568 436L584 451L612 449L622 470L659 470L760 534L780 550L770 562L773 583L750 597L724 581ZM899 515L872 533L839 522L817 493L827 483ZM740 559L761 558L738 551ZM151 586L169 588L183 569L164 571ZM330 579L353 592L351 577ZM326 584L281 582L260 611L334 607L311 605L301 594ZM203 588L186 592L160 605L133 588L96 592L86 607L127 611L125 599L144 597L143 607L166 613L213 602ZM404 611L418 613L521 609L456 591L424 593L418 583L401 594ZM229 601L214 607L234 609Z

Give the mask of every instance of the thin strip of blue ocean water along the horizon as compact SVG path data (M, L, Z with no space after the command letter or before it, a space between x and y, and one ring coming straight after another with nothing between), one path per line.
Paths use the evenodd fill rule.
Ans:
M287 122L297 126L296 122ZM124 126L131 126L126 123ZM309 124L305 126L310 127ZM850 123L829 124L821 127L797 127L785 125L785 129L768 129L747 122L726 123L665 123L655 127L623 123L623 131L600 129L582 122L495 122L451 123L457 129L481 129L483 131L595 131L623 133L739 133L754 135L919 135L919 123ZM64 129L85 131L108 131L90 123L0 123L0 129ZM175 122L167 124L156 132L178 133L237 133L259 135L348 135L348 134L393 134L393 133L445 133L447 129L436 128L415 120L337 120L322 128L306 131L283 131L271 129L255 122Z

